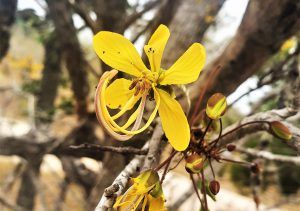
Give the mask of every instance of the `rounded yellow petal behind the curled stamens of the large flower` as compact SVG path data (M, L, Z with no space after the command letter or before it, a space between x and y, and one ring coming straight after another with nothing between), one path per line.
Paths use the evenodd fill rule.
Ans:
M119 78L107 87L105 90L105 99L109 108L117 109L124 107L134 94L134 90L129 90L130 84L130 80ZM138 99L136 99L136 101L137 100ZM134 104L132 104L128 109L131 109L133 105Z

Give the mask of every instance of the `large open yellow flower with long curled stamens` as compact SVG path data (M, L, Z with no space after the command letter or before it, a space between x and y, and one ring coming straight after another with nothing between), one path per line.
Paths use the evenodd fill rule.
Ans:
M113 68L102 75L97 86L96 114L102 125L117 140L128 140L144 131L158 111L170 144L177 151L187 148L190 140L187 118L180 104L165 90L173 84L187 84L197 80L206 55L204 47L194 43L169 69L162 69L161 59L169 36L169 29L160 25L145 45L150 70L143 63L133 44L122 35L101 31L94 36L93 45L97 55ZM133 79L116 79L108 86L118 71L131 75ZM156 106L146 124L140 128L147 96L151 95L154 95ZM128 121L119 126L115 120L132 109L139 100L139 106ZM120 111L111 116L107 107ZM132 128L128 130L133 123Z

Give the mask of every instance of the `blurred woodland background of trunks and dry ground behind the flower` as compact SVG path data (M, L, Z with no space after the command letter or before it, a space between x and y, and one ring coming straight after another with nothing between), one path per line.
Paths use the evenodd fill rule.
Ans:
M221 65L202 105L212 93L228 96L225 127L292 107L296 113L285 120L299 128L299 14L299 0L0 0L0 210L93 210L133 155L69 146L141 147L151 136L118 143L98 124L94 91L109 67L93 51L93 34L124 34L143 55L149 36L165 24L171 31L165 69L193 42L207 49L206 66L188 87L192 107L210 71ZM236 143L300 153L264 132ZM164 153L170 151L165 146ZM211 210L256 210L253 192L261 210L300 210L299 163L259 160L256 179L247 168L220 165L221 193L209 202ZM170 210L199 210L190 183L183 165L167 175ZM185 200L176 204L180 197Z

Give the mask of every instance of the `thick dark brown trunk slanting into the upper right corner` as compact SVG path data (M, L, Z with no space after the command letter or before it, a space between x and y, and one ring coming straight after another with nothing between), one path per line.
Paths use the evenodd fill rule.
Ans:
M192 89L191 97L196 98L209 71L219 65L222 66L220 74L208 88L206 96L215 92L225 95L234 92L299 30L299 14L299 1L250 0L237 34L224 52L205 68Z

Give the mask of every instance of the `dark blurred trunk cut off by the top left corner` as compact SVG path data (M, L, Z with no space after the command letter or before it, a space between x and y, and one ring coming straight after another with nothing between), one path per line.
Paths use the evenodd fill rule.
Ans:
M0 0L0 61L9 48L10 27L15 21L17 0Z

